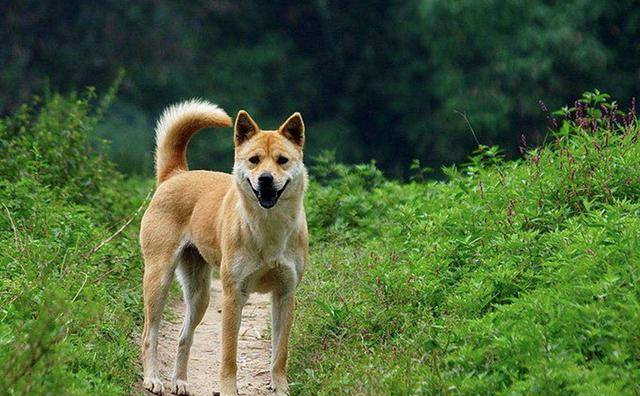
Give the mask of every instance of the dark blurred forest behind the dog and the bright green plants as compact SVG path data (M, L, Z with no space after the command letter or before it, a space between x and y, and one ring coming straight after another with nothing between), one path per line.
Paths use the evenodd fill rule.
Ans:
M309 153L375 158L388 175L464 160L481 143L541 142L538 100L640 90L634 0L8 1L0 5L0 113L47 84L123 94L100 130L149 174L161 109L200 96L273 127L294 111ZM459 113L460 112L460 113ZM336 144L340 142L340 144ZM228 169L231 137L203 134L196 167ZM212 150L213 148L213 150Z

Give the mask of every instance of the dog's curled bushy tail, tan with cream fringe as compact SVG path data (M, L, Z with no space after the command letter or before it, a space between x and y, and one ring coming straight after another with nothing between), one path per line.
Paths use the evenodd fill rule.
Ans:
M188 170L187 144L202 128L230 127L227 113L204 100L188 100L168 107L156 125L156 180L158 184Z

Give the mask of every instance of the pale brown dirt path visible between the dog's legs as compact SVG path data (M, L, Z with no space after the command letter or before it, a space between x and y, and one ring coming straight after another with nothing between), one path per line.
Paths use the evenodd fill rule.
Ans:
M211 303L200 326L196 329L189 358L189 390L193 396L211 396L218 391L220 363L220 294L218 279L211 285ZM160 374L165 394L169 393L171 374L182 327L182 300L172 307L171 321L163 320L158 345ZM253 294L244 307L238 343L238 392L240 395L270 395L269 360L271 353L269 296ZM145 391L145 395L152 395Z

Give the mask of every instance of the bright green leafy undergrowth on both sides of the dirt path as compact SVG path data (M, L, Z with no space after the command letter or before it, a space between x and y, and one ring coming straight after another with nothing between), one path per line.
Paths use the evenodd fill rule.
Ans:
M105 159L110 98L50 94L0 122L10 395L126 395L137 379L136 213L153 182ZM640 124L620 110L587 93L547 114L544 145L522 139L515 161L480 146L446 181L418 162L398 182L309 160L293 394L639 394Z

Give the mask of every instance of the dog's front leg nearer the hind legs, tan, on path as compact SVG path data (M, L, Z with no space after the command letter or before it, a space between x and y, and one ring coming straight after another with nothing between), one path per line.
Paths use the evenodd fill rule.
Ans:
M220 395L236 396L238 332L242 307L247 297L237 287L223 287L222 292L222 353L220 361Z

